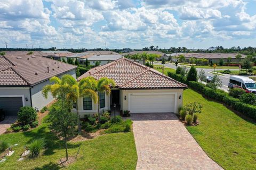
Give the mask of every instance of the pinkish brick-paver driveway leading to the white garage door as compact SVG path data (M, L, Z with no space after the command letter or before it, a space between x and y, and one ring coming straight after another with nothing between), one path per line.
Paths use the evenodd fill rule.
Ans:
M136 169L222 169L172 113L132 114Z

